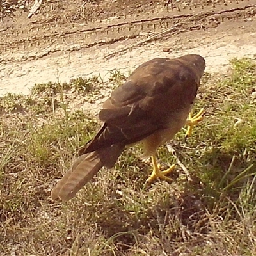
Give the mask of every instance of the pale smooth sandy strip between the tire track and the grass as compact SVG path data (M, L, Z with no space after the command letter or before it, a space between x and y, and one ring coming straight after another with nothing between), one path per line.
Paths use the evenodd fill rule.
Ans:
M35 83L47 81L69 81L77 76L100 74L108 78L109 70L128 72L143 61L155 57L173 57L186 53L201 54L207 64L207 72L225 72L229 60L237 57L256 56L256 20L237 24L223 24L218 29L190 31L173 36L167 40L152 42L137 47L108 60L105 54L124 47L124 43L111 47L93 47L74 52L61 52L33 61L14 61L0 64L0 95L7 92L29 93ZM131 42L129 42L131 44ZM171 48L170 53L163 48ZM19 56L25 53L20 52ZM17 56L17 54L16 54Z

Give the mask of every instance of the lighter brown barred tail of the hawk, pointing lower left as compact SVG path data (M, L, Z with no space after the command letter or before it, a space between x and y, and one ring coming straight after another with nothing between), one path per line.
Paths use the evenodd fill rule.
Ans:
M103 166L111 168L123 149L123 146L110 147L81 155L52 189L52 200L60 198L63 201L68 201L76 196L76 193Z

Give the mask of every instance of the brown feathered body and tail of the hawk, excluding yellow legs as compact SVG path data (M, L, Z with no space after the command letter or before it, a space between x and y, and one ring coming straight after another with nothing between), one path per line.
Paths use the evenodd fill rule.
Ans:
M196 54L155 58L136 68L104 102L104 124L52 190L52 199L74 197L102 166L112 168L126 145L142 141L144 155L155 154L186 124L204 69L204 58Z

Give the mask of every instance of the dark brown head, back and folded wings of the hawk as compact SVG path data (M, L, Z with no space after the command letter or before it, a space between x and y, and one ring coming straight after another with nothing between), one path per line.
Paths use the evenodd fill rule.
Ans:
M156 58L136 68L104 102L99 113L104 126L85 152L136 143L170 127L175 113L189 111L204 68L204 59L198 55Z

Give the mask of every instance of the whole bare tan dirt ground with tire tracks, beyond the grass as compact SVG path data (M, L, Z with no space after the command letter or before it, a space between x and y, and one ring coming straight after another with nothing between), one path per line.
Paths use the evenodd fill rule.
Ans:
M57 79L107 79L160 56L201 54L218 74L234 57L256 58L255 0L49 0L30 19L34 1L1 3L0 95Z

